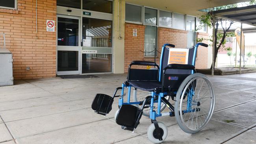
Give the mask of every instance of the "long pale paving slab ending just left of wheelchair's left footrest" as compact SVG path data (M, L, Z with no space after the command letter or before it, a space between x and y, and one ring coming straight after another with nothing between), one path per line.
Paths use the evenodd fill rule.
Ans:
M82 109L72 102L52 103L46 105L39 105L34 107L26 107L22 109L13 109L9 111L0 111L0 115L5 122L22 120L26 118L34 118L38 116L45 116L49 114L64 113L68 111L75 111Z

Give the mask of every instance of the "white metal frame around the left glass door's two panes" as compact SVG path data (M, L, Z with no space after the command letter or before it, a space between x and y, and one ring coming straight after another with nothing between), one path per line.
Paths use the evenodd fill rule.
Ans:
M63 18L71 18L71 19L78 19L78 46L58 46L58 17ZM67 15L57 15L56 18L56 74L58 76L61 75L74 75L80 74L81 69L81 18L78 16L67 16ZM78 70L75 71L58 71L58 51L77 51L78 52Z

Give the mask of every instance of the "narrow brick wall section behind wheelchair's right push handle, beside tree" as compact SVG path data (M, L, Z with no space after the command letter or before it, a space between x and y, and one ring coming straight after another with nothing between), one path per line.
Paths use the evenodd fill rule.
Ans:
M208 38L208 33L198 33L197 38ZM205 44L208 44L208 41L202 41ZM199 46L197 49L197 58L196 58L196 68L205 69L207 68L208 63L208 48L204 46Z

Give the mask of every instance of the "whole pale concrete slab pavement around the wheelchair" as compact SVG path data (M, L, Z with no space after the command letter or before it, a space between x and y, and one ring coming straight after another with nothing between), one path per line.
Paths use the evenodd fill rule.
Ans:
M111 95L126 74L99 78L32 79L0 87L0 144L150 144L143 116L134 133L113 120L117 99L107 116L95 114L96 93ZM183 132L174 117L157 118L168 126L164 144L255 144L256 73L208 76L214 85L216 105L209 124L199 133Z

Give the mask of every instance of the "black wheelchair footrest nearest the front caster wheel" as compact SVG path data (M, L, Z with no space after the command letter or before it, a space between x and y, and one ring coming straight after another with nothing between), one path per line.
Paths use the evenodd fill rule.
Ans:
M129 129L136 128L141 115L141 109L138 107L134 105L122 105L117 114L116 122L122 127L128 127Z

